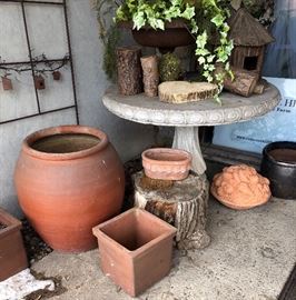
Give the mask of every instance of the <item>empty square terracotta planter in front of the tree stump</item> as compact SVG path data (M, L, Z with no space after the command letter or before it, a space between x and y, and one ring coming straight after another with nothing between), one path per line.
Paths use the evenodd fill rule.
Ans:
M130 209L92 229L105 274L136 297L171 268L176 228L141 209Z

